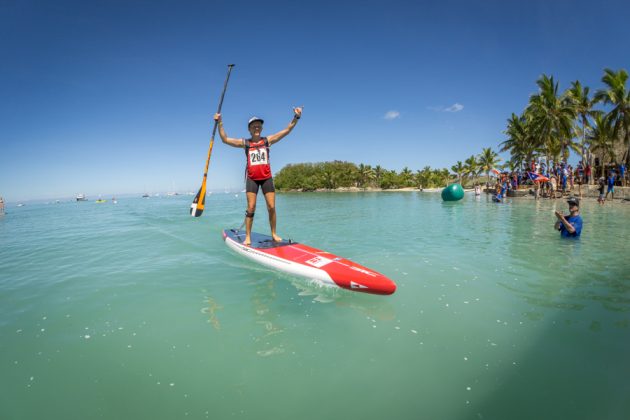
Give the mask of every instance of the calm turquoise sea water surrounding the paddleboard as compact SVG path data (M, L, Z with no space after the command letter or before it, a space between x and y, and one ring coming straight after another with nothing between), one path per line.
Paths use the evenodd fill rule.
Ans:
M584 202L575 241L563 201L278 196L281 235L388 275L383 297L243 259L221 239L243 195L191 199L7 206L0 418L630 416L629 205Z

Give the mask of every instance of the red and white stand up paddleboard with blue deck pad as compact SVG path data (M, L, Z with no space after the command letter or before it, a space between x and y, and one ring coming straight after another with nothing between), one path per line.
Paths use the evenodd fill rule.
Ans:
M292 241L274 242L271 236L255 232L251 238L247 246L244 230L223 231L227 246L268 267L354 292L391 295L396 291L396 284L381 273L330 252Z

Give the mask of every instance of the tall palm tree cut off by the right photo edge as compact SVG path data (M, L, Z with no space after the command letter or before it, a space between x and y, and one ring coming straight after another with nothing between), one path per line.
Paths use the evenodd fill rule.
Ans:
M614 140L622 139L628 147L624 161L630 152L630 92L626 89L627 81L628 73L625 70L615 72L611 69L605 69L602 82L608 88L598 90L595 93L596 101L613 107L610 111L610 117L614 128Z

